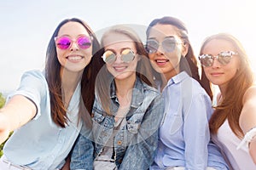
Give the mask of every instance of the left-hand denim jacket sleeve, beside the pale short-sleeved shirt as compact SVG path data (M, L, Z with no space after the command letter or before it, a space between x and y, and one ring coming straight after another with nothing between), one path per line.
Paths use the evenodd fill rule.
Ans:
M71 170L92 170L93 169L93 142L87 135L84 135L84 128L74 144L71 153Z

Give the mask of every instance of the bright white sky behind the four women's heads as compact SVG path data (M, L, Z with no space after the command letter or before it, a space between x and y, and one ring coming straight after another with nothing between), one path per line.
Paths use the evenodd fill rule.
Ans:
M242 42L256 71L255 7L254 0L1 1L0 93L15 90L24 71L44 68L55 27L73 17L85 20L97 33L116 24L146 27L155 18L174 16L188 27L196 55L205 37L229 32Z

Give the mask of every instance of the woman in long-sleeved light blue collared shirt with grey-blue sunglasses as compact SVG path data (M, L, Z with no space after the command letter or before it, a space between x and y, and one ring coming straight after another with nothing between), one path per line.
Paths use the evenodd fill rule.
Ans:
M148 26L146 48L165 99L158 149L150 169L227 169L210 140L211 99L199 83L183 22L168 16L153 20Z

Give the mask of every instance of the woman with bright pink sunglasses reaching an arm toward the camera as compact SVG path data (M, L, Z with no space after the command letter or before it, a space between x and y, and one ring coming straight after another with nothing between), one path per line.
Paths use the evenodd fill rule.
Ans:
M0 143L15 130L4 145L1 170L63 167L82 119L90 117L102 65L101 58L92 57L98 49L84 21L67 19L56 27L44 71L26 71L0 110Z

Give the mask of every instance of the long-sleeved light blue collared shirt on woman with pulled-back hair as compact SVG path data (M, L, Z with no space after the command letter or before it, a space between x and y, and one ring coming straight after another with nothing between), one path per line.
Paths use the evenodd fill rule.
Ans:
M159 146L150 169L185 167L226 169L215 144L210 142L208 119L211 99L201 85L183 71L163 89L165 116L160 126ZM209 150L209 159L208 158Z

